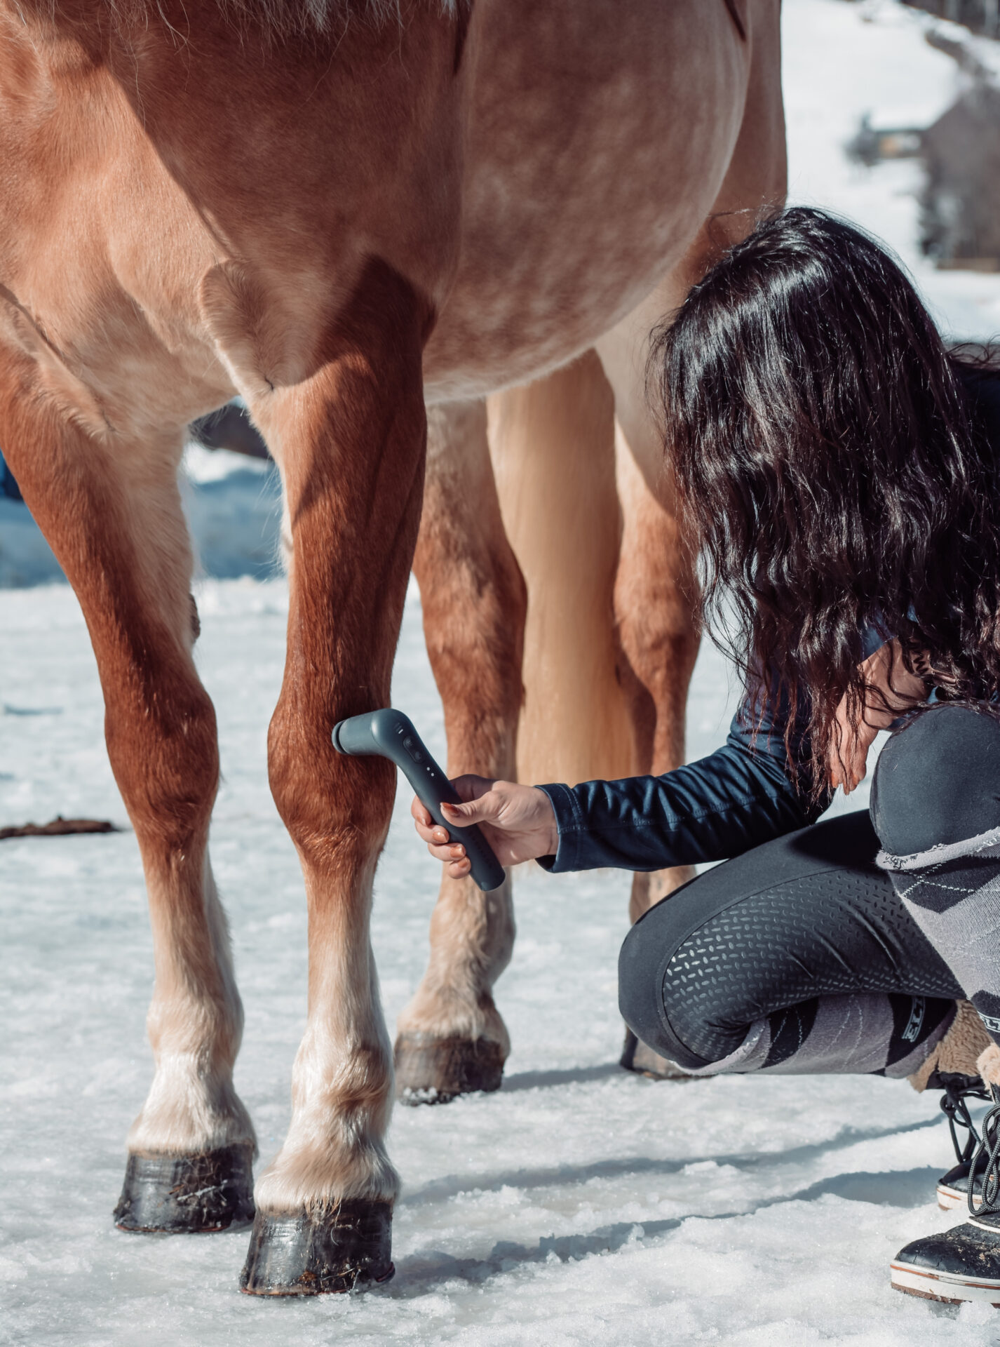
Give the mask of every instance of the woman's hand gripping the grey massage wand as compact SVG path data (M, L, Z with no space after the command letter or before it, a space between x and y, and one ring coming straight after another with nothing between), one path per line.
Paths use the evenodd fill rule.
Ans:
M463 804L441 803L441 814L456 827L478 823L501 865L518 865L559 849L552 801L536 785L490 781L485 776L456 776L451 783ZM409 807L419 835L437 861L444 861L452 880L462 880L471 865L460 842L451 842L416 797Z

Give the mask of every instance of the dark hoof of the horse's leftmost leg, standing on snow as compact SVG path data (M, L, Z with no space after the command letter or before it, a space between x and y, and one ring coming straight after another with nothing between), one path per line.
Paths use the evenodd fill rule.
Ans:
M253 1148L202 1156L129 1156L118 1230L207 1234L253 1220Z

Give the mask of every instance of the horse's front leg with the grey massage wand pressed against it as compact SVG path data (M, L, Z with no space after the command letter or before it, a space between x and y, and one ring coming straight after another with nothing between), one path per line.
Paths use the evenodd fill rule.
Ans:
M253 401L285 486L288 653L268 761L301 862L310 939L292 1121L254 1193L242 1285L257 1294L350 1290L392 1274L393 1072L369 916L396 769L341 757L330 734L343 717L389 704L420 523L428 326L427 303L373 263L324 341L331 357Z

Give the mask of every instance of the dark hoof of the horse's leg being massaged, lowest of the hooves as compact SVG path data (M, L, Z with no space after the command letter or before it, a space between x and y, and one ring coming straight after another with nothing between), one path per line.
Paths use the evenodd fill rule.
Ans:
M323 1296L389 1281L390 1202L347 1197L316 1215L257 1212L240 1277L246 1296Z

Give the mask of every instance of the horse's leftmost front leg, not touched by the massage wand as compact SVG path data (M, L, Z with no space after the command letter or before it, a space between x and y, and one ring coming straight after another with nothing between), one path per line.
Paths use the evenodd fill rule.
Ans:
M156 982L152 1088L128 1140L124 1230L248 1220L256 1150L233 1090L242 1009L207 857L215 717L191 659L180 435L89 434L0 348L0 443L79 598L105 699L108 754L143 857Z

